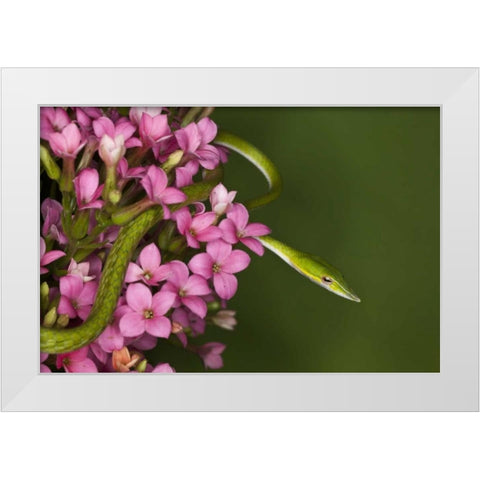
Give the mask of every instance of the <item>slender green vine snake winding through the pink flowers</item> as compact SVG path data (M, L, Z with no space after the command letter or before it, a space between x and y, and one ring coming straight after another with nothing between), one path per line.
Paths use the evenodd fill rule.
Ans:
M281 192L281 177L273 162L256 147L227 132L218 132L214 143L239 153L265 176L269 190L266 194L245 203L248 209L266 205ZM212 189L221 181L222 170L217 168L207 173L202 182L183 189L187 200L171 208L172 211L193 202L206 200ZM163 217L160 206L154 206L139 214L124 225L106 259L97 295L90 315L77 327L56 329L40 327L40 351L66 353L88 345L108 326L121 293L126 269L143 236ZM278 255L288 265L336 295L359 302L360 299L347 285L343 275L321 258L298 251L267 235L259 237L265 248Z

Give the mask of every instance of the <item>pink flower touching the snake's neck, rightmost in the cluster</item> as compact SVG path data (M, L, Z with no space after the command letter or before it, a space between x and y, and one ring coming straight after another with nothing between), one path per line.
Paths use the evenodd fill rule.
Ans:
M271 230L262 223L248 223L248 210L240 203L232 206L227 218L220 222L223 239L228 243L241 242L257 255L263 255L263 245L253 237L268 235Z

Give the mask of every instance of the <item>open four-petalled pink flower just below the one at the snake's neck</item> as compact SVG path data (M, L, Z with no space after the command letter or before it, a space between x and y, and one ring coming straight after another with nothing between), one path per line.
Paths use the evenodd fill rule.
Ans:
M195 255L188 266L193 273L209 279L213 277L215 291L220 298L230 300L237 291L238 282L234 273L245 270L250 257L241 250L234 250L223 240L207 245L206 253Z

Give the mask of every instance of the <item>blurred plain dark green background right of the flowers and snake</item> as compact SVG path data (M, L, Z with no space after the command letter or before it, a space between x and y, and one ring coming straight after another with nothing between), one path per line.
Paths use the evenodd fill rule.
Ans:
M222 107L212 118L282 174L280 199L251 220L335 265L362 299L328 293L268 251L252 254L229 305L236 330L201 337L227 344L219 371L438 372L439 108ZM225 184L239 201L266 189L234 154ZM204 371L188 352L165 345L163 356L177 371Z

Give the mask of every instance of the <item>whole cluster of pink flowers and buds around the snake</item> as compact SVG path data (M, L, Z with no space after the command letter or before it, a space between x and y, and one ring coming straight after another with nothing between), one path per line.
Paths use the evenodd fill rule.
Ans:
M164 211L128 265L103 333L77 351L42 354L42 372L174 372L162 357L162 342L198 355L205 368L223 366L225 345L201 344L196 337L207 326L234 328L227 301L237 292L236 274L250 263L244 248L263 255L257 237L270 229L251 223L248 210L234 203L236 192L221 183L209 201L185 205L182 188L227 157L212 144L217 126L210 118L181 126L182 113L161 107L41 109L42 144L72 183L69 188L60 179L41 205L43 325L70 328L88 319L120 228L112 214L138 214L153 205ZM160 360L156 366L150 356Z

